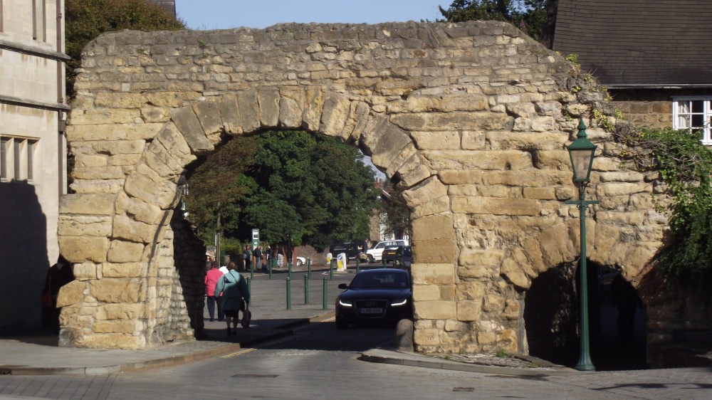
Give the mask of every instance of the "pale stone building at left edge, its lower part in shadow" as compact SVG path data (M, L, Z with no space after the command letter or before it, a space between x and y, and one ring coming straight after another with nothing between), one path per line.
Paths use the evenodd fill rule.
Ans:
M0 1L0 334L41 326L66 192L63 0ZM23 307L8 307L22 301Z

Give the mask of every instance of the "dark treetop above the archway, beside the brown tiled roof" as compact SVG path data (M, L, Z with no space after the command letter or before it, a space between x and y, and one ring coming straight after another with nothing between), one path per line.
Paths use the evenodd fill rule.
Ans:
M449 22L473 20L512 23L541 43L548 44L548 11L553 0L454 0L440 13Z

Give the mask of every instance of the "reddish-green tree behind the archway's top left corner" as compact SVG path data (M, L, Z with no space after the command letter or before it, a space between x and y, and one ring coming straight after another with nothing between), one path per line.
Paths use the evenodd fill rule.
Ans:
M65 40L67 93L73 94L75 70L80 68L84 47L110 31L177 31L185 23L145 0L66 0Z

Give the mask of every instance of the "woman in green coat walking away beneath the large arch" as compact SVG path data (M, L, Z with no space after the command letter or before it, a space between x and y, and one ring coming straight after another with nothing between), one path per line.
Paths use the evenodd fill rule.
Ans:
M248 312L250 292L247 289L245 278L237 272L235 263L229 263L227 269L228 273L223 275L215 285L215 298L220 302L222 310L225 312L227 335L232 336L237 334L240 311ZM230 330L230 320L233 322L233 330Z

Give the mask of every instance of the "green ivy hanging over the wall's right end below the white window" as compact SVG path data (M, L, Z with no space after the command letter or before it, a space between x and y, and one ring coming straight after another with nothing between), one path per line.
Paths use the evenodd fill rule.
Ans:
M671 283L712 283L712 150L701 132L624 127L614 132L620 157L642 171L658 171L674 199L671 238L658 264Z

